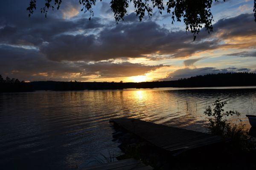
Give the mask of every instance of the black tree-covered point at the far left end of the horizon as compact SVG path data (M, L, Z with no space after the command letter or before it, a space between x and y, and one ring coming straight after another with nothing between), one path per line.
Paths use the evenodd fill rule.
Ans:
M24 82L19 79L9 78L3 79L0 75L0 92L26 92L34 91L31 83Z

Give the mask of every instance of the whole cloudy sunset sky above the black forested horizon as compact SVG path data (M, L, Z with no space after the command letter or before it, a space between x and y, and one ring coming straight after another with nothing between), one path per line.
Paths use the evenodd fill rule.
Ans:
M99 0L94 16L79 0L63 0L59 10L40 8L28 17L30 0L0 6L0 74L25 81L142 82L225 72L256 72L253 0L213 3L213 32L202 28L195 41L171 14L145 16L132 4L116 24L109 0ZM164 0L166 2L166 0Z

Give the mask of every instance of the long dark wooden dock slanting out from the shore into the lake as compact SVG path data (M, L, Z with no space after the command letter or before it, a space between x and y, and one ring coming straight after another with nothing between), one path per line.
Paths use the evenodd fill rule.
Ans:
M119 125L130 133L150 142L156 147L168 151L190 150L210 144L216 144L223 139L207 133L186 130L177 127L159 125L138 119L111 119L114 125Z

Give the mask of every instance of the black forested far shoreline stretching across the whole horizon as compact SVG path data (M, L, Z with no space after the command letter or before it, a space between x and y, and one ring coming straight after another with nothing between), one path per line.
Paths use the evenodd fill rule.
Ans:
M0 92L25 91L79 91L79 90L115 90L125 88L192 88L192 87L224 87L224 86L256 86L256 73L219 73L195 76L173 81L153 82L57 82L35 81L20 82L0 75Z

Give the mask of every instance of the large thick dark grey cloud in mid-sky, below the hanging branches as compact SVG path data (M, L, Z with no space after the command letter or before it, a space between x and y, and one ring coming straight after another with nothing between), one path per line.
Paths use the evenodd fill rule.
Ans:
M49 41L49 44L43 46L41 50L49 59L55 61L100 61L122 57L143 57L144 54L157 51L159 48L157 41L166 37L166 32L166 29L160 28L153 22L138 23L134 26L119 24L114 28L105 28L98 35L60 35ZM164 44L164 42L159 43ZM69 52L67 47L70 49Z

